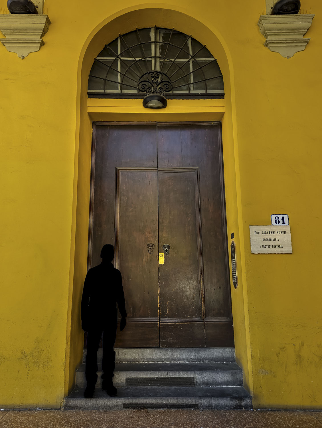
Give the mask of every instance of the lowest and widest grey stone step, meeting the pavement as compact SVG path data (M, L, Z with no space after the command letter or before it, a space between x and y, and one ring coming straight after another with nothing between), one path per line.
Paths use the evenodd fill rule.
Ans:
M100 388L94 398L84 398L85 388L75 388L64 398L66 409L197 408L249 409L251 396L242 386L119 387L117 397Z

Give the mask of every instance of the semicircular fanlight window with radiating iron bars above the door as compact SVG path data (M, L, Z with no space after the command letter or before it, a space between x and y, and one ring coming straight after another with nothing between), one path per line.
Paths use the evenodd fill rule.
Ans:
M161 71L169 95L222 98L224 83L216 59L205 45L174 29L143 28L119 36L95 58L88 95L144 95L143 75Z

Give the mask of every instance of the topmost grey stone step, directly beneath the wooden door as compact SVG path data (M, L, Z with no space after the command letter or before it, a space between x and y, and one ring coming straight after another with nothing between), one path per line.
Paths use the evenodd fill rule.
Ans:
M233 363L235 348L115 348L117 363ZM103 350L97 352L102 362ZM83 352L85 363L86 349Z

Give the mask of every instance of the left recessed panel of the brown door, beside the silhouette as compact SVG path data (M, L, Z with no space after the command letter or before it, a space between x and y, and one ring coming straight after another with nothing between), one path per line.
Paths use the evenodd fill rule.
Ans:
M156 168L117 169L115 264L129 318L159 317L157 175Z

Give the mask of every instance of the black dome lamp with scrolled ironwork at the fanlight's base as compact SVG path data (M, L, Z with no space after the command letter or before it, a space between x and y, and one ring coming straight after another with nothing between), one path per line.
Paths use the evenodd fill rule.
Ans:
M143 74L138 83L139 92L145 92L143 107L165 108L168 104L164 94L170 92L173 86L169 77L162 71L148 71Z

